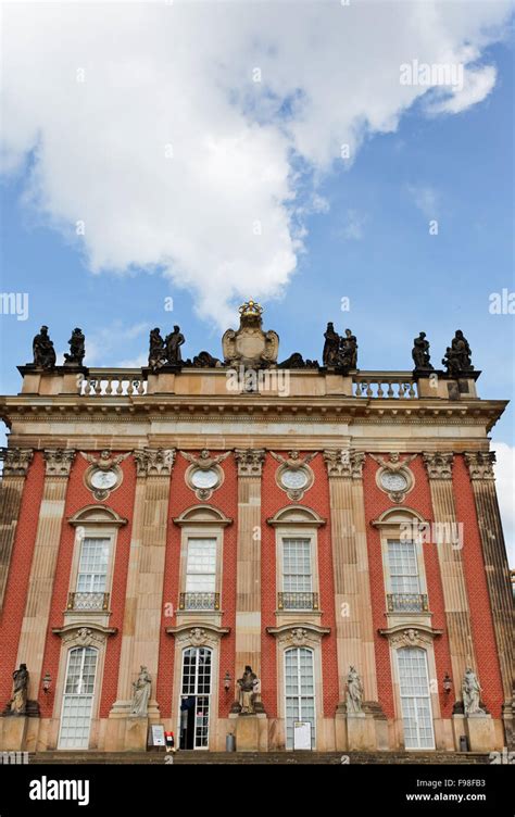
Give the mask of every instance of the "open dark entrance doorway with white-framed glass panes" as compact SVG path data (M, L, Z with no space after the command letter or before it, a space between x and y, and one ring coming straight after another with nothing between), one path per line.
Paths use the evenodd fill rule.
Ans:
M196 646L183 653L179 706L180 749L209 749L212 650Z

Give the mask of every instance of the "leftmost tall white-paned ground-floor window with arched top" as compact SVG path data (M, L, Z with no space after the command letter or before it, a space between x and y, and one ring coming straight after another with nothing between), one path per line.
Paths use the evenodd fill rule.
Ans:
M78 646L68 653L59 749L88 749L97 671L97 650Z

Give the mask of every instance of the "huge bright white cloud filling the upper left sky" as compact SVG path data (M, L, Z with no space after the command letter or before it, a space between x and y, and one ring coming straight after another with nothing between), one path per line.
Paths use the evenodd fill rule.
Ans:
M477 103L511 8L8 3L3 166L32 152L26 201L73 240L84 221L93 272L160 268L225 327L233 300L284 291L342 146L354 161L427 91L400 65L465 61L442 110Z

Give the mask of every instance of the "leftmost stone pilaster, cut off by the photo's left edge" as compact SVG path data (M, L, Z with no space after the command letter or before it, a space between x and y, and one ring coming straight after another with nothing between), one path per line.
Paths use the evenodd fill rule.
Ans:
M0 449L0 458L3 460L0 486L0 612L8 585L25 477L33 456L33 449Z

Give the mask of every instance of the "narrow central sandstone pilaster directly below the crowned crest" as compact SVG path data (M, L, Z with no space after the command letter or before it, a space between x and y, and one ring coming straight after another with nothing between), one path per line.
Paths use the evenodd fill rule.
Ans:
M236 676L247 664L261 678L261 475L264 449L236 449L238 550L236 577Z

